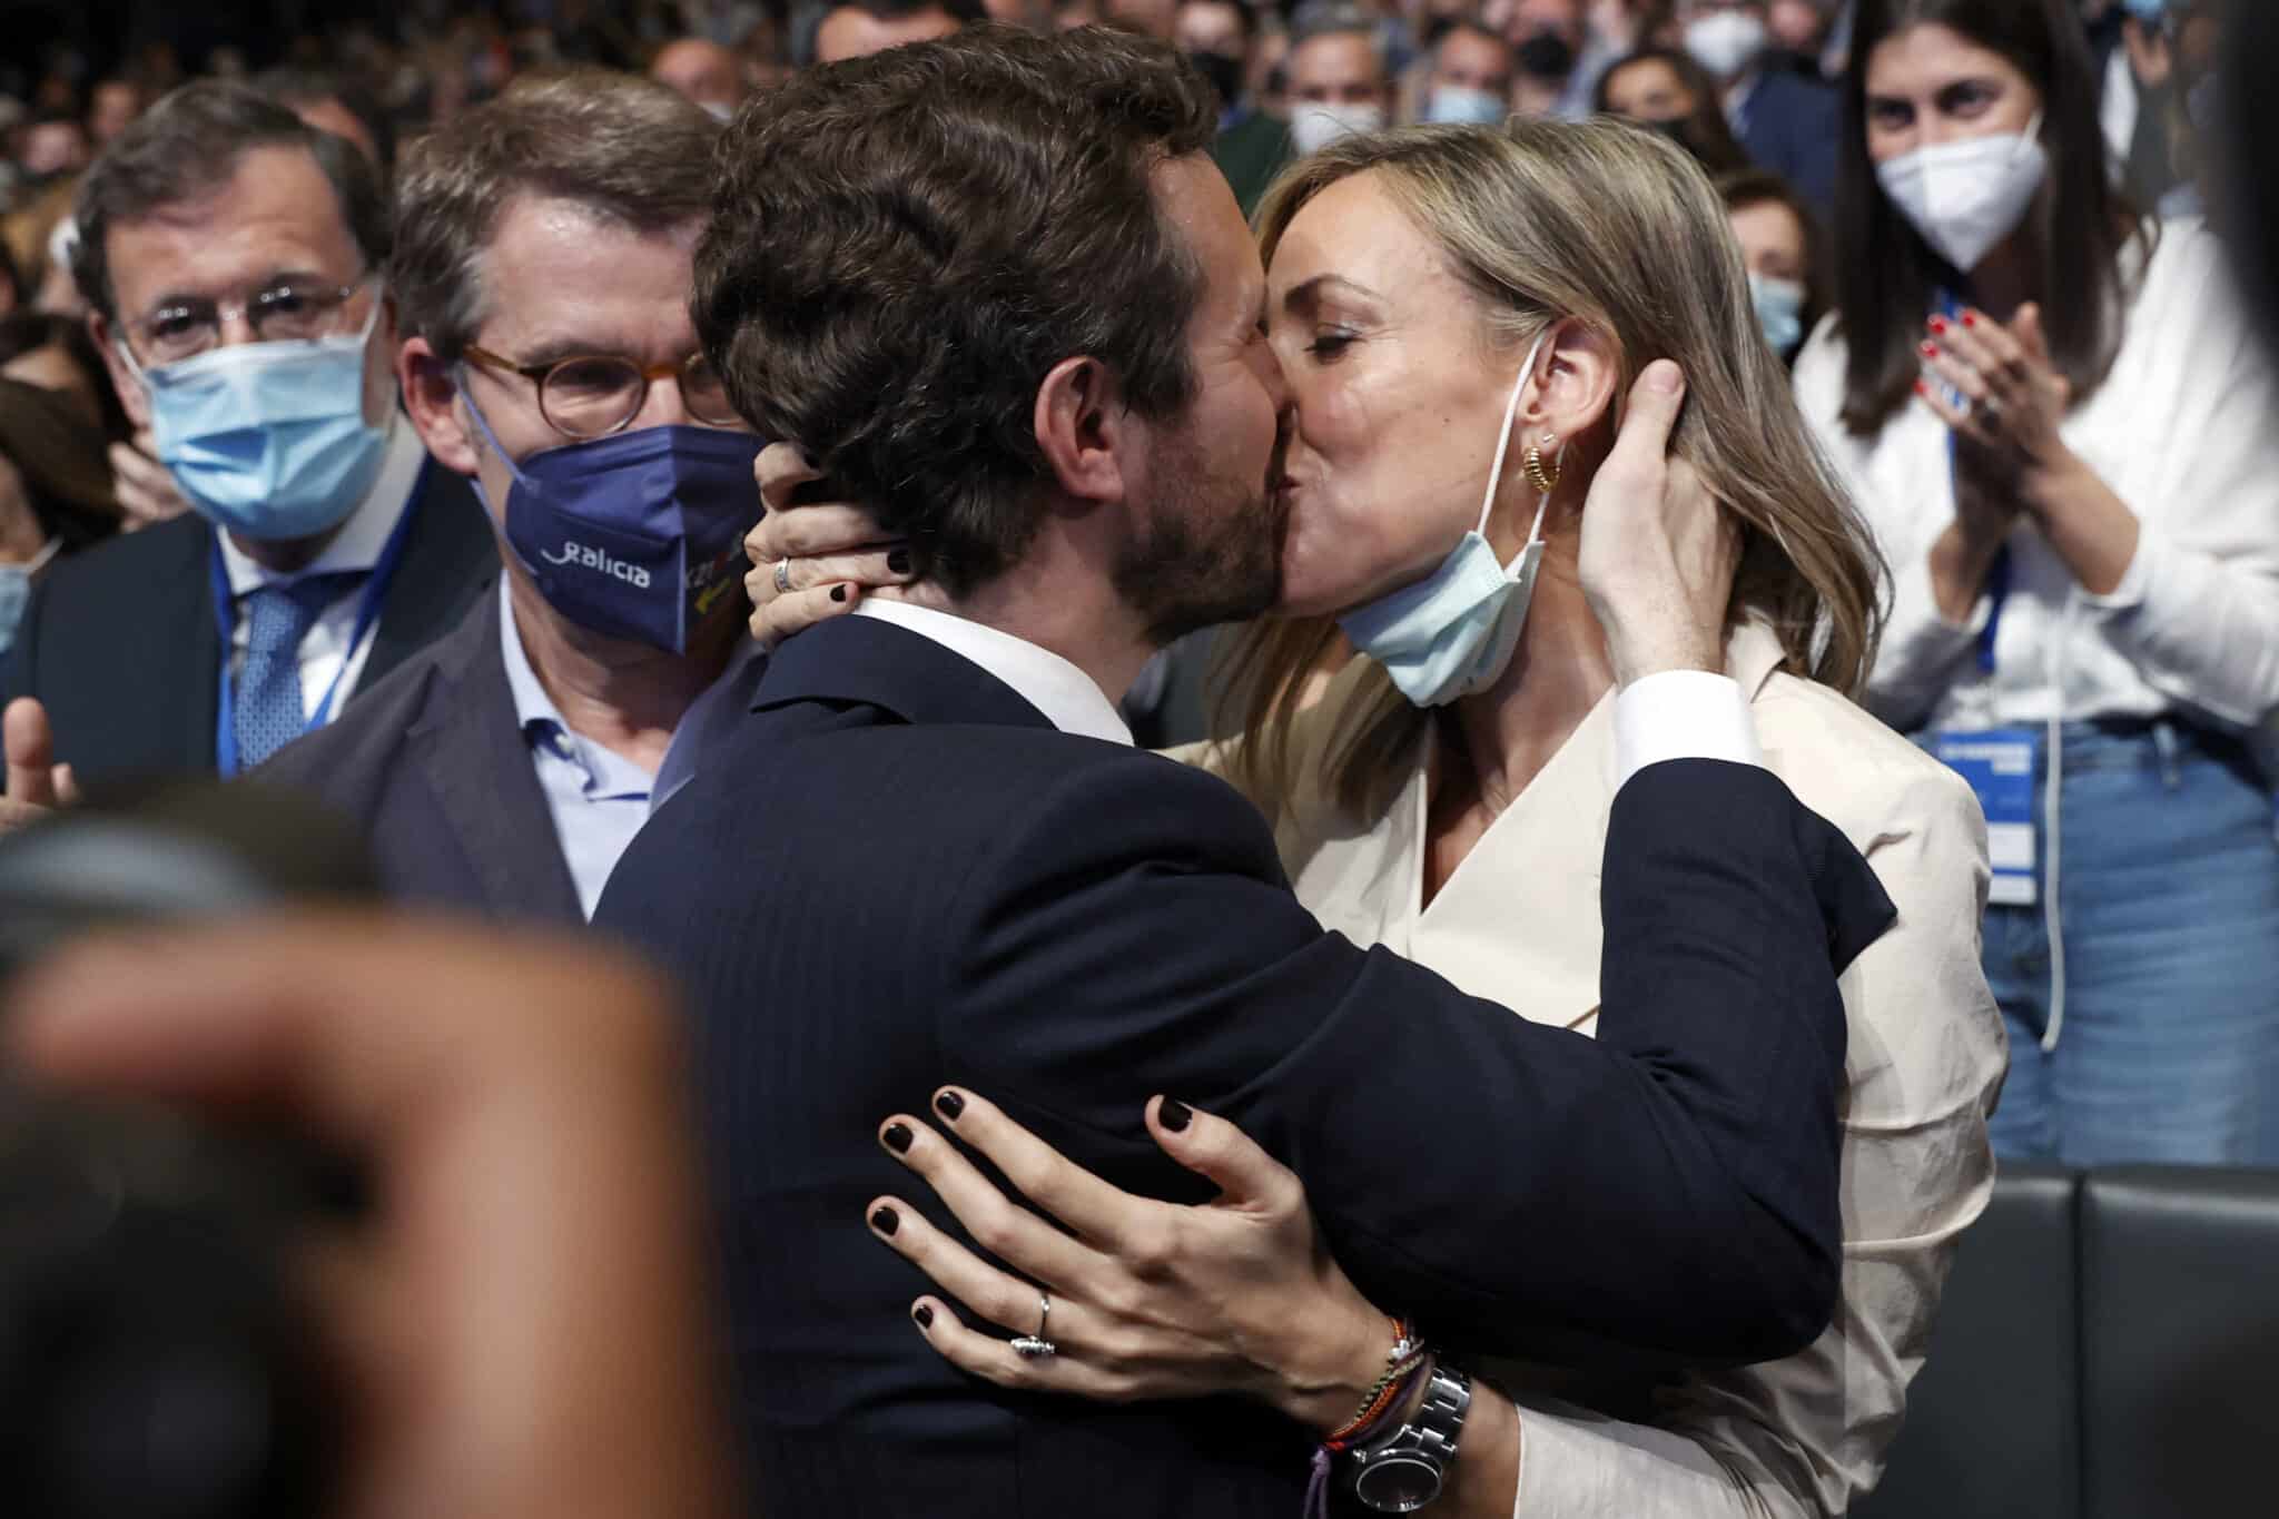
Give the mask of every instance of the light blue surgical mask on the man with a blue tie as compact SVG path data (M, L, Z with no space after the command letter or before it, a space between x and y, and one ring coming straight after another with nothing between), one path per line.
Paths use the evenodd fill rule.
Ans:
M387 430L365 421L365 330L310 342L230 344L157 369L157 458L198 515L255 542L315 537L346 522L381 474Z

